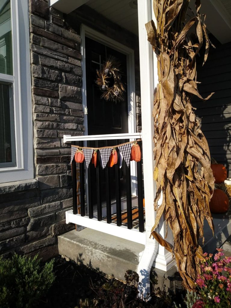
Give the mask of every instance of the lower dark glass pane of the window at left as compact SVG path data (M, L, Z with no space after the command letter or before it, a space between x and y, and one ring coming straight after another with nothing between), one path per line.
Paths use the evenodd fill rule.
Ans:
M16 166L13 85L0 83L0 168Z

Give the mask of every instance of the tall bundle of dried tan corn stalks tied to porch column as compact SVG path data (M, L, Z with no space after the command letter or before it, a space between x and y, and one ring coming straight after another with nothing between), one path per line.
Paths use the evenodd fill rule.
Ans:
M205 39L206 61L209 39L205 16L199 13L200 0L196 0L196 16L186 22L189 2L154 0L157 27L150 21L146 29L157 55L159 77L153 109L157 216L152 235L174 252L185 286L194 289L198 263L203 258L198 239L203 237L204 219L213 230L209 191L214 188L214 179L209 147L191 105L193 95L203 99L197 90L196 55ZM163 199L157 207L161 191ZM155 232L163 214L172 229L174 247Z

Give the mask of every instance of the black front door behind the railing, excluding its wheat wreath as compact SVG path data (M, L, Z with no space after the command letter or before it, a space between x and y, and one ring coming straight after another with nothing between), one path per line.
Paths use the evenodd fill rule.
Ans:
M86 85L87 85L87 128L88 135L106 135L128 132L128 98L127 98L127 57L92 39L85 38L86 56ZM95 83L97 79L96 70L103 66L103 63L110 56L115 57L120 62L121 80L125 86L124 101L112 102L101 98L102 92ZM123 143L124 140L118 140ZM99 140L92 142L91 147L103 147L115 145L116 140ZM91 164L90 164L91 165ZM124 161L123 161L124 165ZM96 204L96 173L95 168L91 168L91 200ZM106 167L107 168L107 167ZM126 195L125 168L120 170L121 196ZM101 187L105 187L105 171L101 169ZM115 169L110 168L111 178L111 199L115 198ZM101 189L102 202L106 200L105 189Z

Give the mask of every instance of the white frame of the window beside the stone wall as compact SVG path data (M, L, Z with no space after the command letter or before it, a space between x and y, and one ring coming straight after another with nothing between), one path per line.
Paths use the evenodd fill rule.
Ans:
M0 168L0 183L34 178L29 4L27 0L10 0L10 5L13 75L0 73L0 81L13 85L16 166Z

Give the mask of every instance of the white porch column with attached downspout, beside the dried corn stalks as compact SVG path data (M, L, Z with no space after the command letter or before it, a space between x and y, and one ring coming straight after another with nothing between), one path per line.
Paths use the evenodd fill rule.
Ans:
M138 266L138 274L140 275L140 279L143 280L144 284L146 283L147 290L149 283L148 282L149 273L152 265L154 265L156 268L160 270L167 271L174 264L174 261L172 259L172 254L169 253L162 246L158 245L153 238L151 239L149 238L152 226L154 225L156 218L156 212L154 211L154 206L153 206L153 201L156 195L156 183L153 180L154 129L153 129L152 109L153 109L153 93L158 83L157 59L156 55L152 51L151 44L147 40L147 32L145 28L145 23L149 22L151 19L153 19L153 21L156 23L156 18L152 9L152 0L138 0L141 117L142 117L145 229L146 229L146 246L142 254L142 257L140 258L140 264ZM166 234L166 226L163 219L162 221L160 221L158 231L164 238ZM171 237L170 230L169 230L169 236ZM143 272L142 272L142 267L145 268L143 269ZM144 273L146 273L146 277ZM145 294L148 291L144 291L143 289L143 292Z

